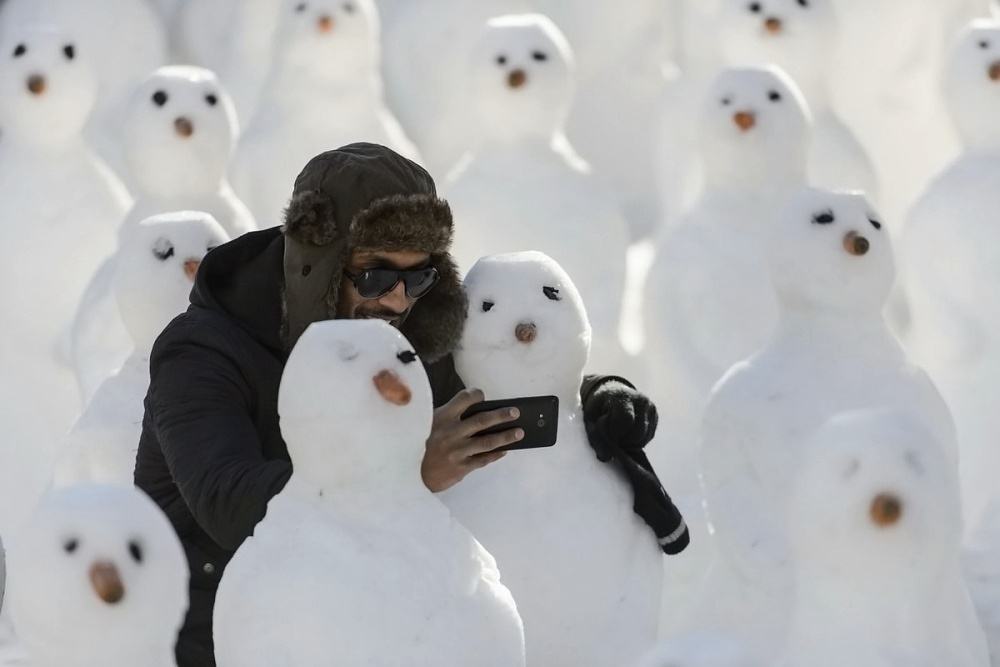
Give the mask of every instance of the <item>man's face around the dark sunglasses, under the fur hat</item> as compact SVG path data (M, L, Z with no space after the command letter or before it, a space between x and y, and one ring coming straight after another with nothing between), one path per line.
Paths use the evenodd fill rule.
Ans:
M357 275L367 269L422 269L430 264L426 252L412 251L355 251L347 265L347 273ZM337 303L338 319L379 318L397 329L402 326L416 299L406 295L403 281L377 299L365 299L358 294L354 283L347 276L341 278L340 299Z

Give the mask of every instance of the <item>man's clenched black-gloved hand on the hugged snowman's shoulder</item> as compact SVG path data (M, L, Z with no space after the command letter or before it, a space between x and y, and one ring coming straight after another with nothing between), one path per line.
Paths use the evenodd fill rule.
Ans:
M608 380L583 404L583 422L597 458L609 461L613 450L641 450L656 434L656 406L633 387Z

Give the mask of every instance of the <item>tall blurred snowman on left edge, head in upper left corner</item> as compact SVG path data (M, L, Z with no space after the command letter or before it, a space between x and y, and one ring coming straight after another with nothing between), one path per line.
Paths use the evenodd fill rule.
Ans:
M81 136L97 96L89 57L47 27L0 38L0 532L37 500L79 414L66 334L128 207Z

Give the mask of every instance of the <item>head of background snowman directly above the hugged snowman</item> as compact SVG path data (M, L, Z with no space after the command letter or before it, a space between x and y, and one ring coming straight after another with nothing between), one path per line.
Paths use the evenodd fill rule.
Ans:
M472 52L469 90L484 134L497 140L549 139L562 130L573 99L573 54L540 14L486 24Z

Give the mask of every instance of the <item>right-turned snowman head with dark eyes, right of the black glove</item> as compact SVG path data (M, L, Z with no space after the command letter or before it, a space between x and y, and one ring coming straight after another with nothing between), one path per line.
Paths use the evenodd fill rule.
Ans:
M803 188L769 229L767 254L787 308L878 315L895 281L888 231L859 193Z

